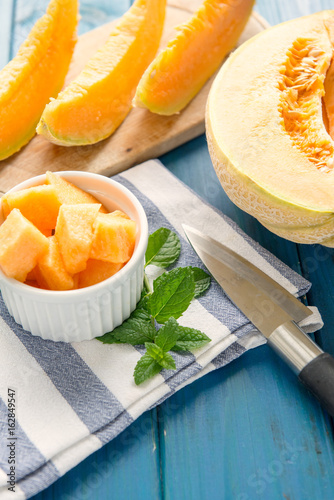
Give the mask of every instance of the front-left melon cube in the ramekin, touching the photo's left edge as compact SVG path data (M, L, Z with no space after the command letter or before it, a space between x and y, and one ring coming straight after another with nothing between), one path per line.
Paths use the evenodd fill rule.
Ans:
M24 281L48 248L49 240L16 208L0 226L0 266L10 278Z

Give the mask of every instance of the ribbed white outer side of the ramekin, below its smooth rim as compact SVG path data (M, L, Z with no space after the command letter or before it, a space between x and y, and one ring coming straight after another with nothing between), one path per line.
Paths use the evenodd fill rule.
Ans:
M143 274L142 260L124 281L108 286L106 280L100 292L69 297L67 303L22 295L6 284L1 291L9 313L28 332L43 339L79 342L113 330L130 316L140 299Z

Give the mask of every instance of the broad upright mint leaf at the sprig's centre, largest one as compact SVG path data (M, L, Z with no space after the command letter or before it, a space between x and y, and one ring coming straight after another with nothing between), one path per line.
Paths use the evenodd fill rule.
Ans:
M158 323L171 316L177 319L194 298L195 281L190 267L178 267L165 272L153 282L153 293L148 298L148 310Z

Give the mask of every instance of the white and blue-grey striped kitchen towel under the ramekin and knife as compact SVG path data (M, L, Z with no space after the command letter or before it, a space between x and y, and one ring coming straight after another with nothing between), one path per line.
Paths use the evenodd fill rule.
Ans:
M221 239L296 296L308 291L310 283L201 200L159 162L146 162L115 179L144 206L150 232L164 226L178 233L182 243L178 265L203 267L182 231L181 223L188 223ZM43 490L144 411L264 343L213 281L208 292L194 300L179 320L204 331L212 341L194 352L173 353L176 371L164 370L136 386L133 370L141 349L104 345L95 339L72 344L46 341L17 325L2 301L0 314L1 500L29 498ZM305 327L315 331L321 326L314 309ZM8 419L11 395L18 408L12 435ZM8 490L11 445L17 453L12 469L15 493Z

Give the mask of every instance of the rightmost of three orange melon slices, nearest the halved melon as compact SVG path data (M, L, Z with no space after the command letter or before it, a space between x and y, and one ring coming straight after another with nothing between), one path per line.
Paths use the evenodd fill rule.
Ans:
M142 76L134 105L161 115L181 111L240 37L254 0L205 0Z

